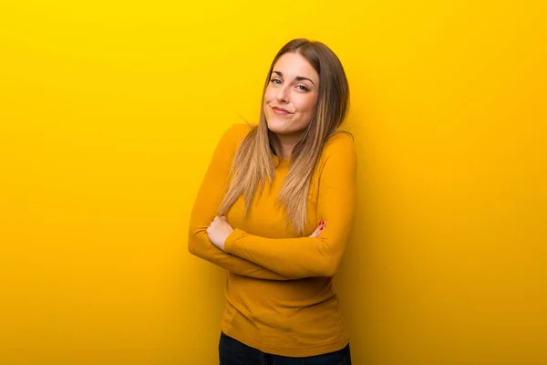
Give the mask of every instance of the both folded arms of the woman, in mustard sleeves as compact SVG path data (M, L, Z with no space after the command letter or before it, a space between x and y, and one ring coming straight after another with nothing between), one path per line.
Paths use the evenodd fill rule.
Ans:
M238 139L234 135L243 127L234 125L228 130L213 153L191 214L188 245L191 254L234 274L260 279L334 276L346 252L355 214L353 141L339 137L325 149L317 204L317 215L328 225L324 230L316 230L308 237L265 238L230 227L227 233L218 235L213 221L237 149Z

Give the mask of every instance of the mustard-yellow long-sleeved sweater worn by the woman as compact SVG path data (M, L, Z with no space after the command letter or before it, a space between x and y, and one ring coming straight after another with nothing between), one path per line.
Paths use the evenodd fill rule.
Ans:
M306 236L286 226L276 203L288 161L275 157L276 175L247 217L243 197L226 214L234 228L224 250L206 230L226 193L235 151L250 127L234 124L222 136L191 213L188 247L229 271L222 331L263 352L289 357L343 349L349 333L338 309L332 276L346 252L356 208L356 153L346 133L328 141L308 193ZM325 220L325 230L308 237Z

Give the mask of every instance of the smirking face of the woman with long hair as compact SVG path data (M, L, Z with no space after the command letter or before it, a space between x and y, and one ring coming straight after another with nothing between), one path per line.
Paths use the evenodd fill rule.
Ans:
M314 117L319 75L297 53L285 53L274 65L264 93L268 129L279 135L299 135Z

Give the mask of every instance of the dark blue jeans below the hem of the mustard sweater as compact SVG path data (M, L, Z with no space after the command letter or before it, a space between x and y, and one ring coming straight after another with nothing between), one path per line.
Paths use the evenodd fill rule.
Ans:
M221 365L351 365L349 344L344 349L323 355L288 358L253 349L222 332L219 358Z

